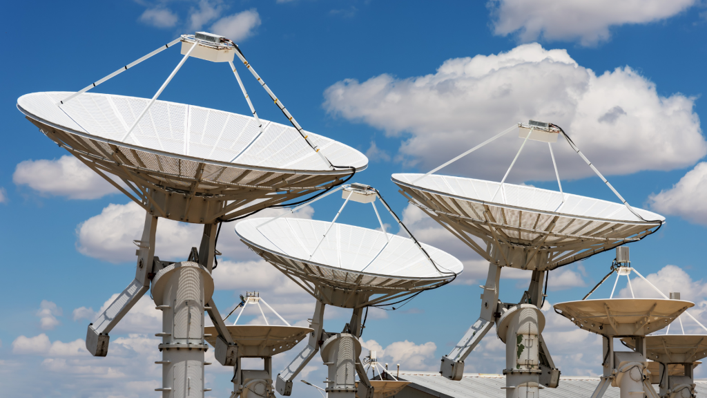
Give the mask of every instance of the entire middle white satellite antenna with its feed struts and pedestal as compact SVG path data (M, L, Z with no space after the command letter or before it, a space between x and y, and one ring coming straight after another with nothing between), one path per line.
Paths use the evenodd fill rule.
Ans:
M376 198L403 229L407 228L374 188L363 184L344 186L342 198L344 205L332 222L276 217L245 220L235 226L236 234L250 249L317 299L310 323L315 331L310 334L308 346L277 377L276 390L283 395L291 394L292 380L321 350L329 367L328 397L373 397L375 387L358 361L358 339L365 327L365 318L361 322L363 309L404 302L424 290L449 283L463 269L457 258L421 244L411 234L404 238L385 232L375 207ZM381 230L337 224L350 200L371 203ZM353 309L351 321L341 333L324 331L325 305ZM358 387L354 369L361 380Z

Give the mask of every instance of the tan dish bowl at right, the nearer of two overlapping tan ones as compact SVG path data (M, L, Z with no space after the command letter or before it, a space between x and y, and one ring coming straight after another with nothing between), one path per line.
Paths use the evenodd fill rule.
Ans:
M683 300L599 299L554 305L580 329L603 336L645 336L665 328L694 304Z

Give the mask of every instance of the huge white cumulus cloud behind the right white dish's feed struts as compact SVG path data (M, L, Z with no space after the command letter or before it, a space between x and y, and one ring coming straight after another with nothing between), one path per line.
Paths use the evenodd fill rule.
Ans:
M563 127L604 175L679 169L707 154L694 98L660 96L631 67L596 74L566 50L537 43L448 59L425 76L339 81L325 91L324 106L332 115L403 137L398 156L421 171L529 119ZM438 174L498 181L521 142L518 132L510 132ZM553 145L561 178L593 175L563 139ZM528 142L508 182L554 178L547 144Z

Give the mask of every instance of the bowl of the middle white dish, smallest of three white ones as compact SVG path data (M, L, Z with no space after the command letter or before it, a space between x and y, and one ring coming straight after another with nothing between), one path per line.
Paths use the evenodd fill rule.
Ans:
M432 246L422 244L436 267L412 239L347 224L334 224L315 251L330 222L280 218L258 227L268 220L244 220L235 232L281 272L319 289L369 295L421 291L447 283L463 269L457 258ZM327 304L349 306L329 298Z

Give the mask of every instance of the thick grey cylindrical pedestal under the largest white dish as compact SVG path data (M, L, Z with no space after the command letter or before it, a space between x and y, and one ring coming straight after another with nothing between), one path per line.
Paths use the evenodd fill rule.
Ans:
M163 398L204 397L204 303L214 280L198 263L183 261L163 268L152 280L153 300L162 310Z

